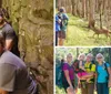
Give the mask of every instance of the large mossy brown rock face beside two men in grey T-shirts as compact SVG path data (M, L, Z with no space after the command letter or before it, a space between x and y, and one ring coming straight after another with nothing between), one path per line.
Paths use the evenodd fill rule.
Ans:
M39 71L41 94L53 94L53 0L2 0L24 62ZM37 74L38 75L38 74Z

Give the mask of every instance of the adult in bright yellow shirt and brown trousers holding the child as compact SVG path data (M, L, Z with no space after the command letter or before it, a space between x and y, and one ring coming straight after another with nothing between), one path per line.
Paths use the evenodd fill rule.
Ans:
M89 53L85 59L84 69L87 73L93 74L92 76L88 77L90 80L81 81L81 94L94 94L94 73L95 73L95 65L92 64L93 55Z

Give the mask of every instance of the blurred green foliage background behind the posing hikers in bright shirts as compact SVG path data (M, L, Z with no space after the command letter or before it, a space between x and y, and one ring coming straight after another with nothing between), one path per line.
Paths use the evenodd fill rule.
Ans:
M94 58L98 53L102 53L104 56L104 60L111 64L111 48L57 48L56 49L56 67L60 65L60 60L65 58L68 53L72 53L73 60L77 59L80 53L85 53L85 54L92 53ZM56 70L56 72L58 70ZM56 74L56 82L57 82L57 76L58 74ZM63 88L60 88L59 86L56 85L56 94L65 94L65 92ZM77 94L81 94L80 88L78 90ZM97 92L94 94L97 94ZM109 94L111 94L111 92Z

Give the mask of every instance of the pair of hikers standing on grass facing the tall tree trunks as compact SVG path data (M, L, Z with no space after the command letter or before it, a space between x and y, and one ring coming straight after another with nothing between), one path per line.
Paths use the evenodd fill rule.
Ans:
M61 7L56 14L56 45L63 45L65 39L65 32L68 27L69 17L65 13L65 9Z

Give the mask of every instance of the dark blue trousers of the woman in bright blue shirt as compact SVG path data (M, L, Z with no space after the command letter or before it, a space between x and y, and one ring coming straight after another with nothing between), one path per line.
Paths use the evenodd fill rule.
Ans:
M109 94L108 83L98 83L97 92L98 94Z

